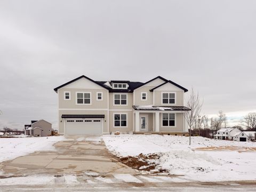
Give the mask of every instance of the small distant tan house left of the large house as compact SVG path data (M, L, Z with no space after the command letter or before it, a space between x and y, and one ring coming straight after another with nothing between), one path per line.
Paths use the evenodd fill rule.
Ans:
M25 135L33 135L35 137L46 137L52 135L52 124L41 119L39 121L31 121L30 125L25 125Z

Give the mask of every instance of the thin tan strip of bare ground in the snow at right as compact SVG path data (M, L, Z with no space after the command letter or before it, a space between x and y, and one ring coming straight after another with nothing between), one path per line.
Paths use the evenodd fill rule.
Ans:
M199 147L199 148L196 148L195 150L205 150L205 151L229 150L229 151L238 151L239 153L242 153L242 152L256 152L256 147L238 147L238 146Z

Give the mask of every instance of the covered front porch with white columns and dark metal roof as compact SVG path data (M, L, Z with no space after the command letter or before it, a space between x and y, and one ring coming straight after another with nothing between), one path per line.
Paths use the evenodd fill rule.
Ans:
M188 133L186 107L133 106L133 133Z

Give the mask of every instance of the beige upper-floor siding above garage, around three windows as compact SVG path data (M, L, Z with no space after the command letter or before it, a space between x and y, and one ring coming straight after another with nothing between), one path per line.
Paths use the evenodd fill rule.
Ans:
M64 100L64 92L70 92L70 100ZM91 105L76 105L76 92L91 92ZM97 92L102 92L103 100L97 101ZM107 109L108 91L105 89L60 89L58 90L60 109Z

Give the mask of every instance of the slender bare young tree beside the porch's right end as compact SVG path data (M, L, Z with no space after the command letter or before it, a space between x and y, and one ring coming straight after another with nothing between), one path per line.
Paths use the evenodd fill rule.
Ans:
M186 106L190 109L184 113L185 119L189 126L189 145L191 145L191 128L196 123L196 118L200 114L203 102L199 99L198 92L195 93L194 89L191 89L190 95L186 98Z

